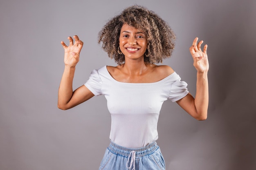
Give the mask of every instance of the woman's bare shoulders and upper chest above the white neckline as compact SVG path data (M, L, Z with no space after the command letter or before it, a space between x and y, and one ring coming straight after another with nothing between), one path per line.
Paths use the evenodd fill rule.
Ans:
M107 66L110 75L118 82L125 83L153 83L164 79L168 75L171 75L174 71L171 67L155 64L147 64L141 73L127 73L124 69L124 64L121 66Z

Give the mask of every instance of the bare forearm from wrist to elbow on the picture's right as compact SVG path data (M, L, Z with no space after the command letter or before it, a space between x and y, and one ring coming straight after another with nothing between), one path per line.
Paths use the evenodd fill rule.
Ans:
M209 88L208 77L206 72L197 73L195 108L198 114L198 119L207 118L207 110L209 104Z

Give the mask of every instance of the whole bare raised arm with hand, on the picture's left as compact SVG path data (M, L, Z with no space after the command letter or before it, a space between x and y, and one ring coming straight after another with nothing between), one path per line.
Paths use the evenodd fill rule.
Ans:
M61 42L65 52L65 69L58 90L58 108L62 110L72 108L94 96L92 92L84 85L77 88L73 92L72 84L75 73L75 67L76 64L79 62L79 54L83 47L83 42L79 40L77 35L74 36L74 44L73 39L71 37L69 37L68 39L70 41L70 46L66 46L66 44L63 41Z

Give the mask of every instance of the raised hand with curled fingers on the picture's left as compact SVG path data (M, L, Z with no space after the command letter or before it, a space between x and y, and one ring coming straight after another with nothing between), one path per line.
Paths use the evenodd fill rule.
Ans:
M64 63L65 66L75 67L76 64L79 62L79 54L83 47L83 42L79 40L77 35L73 37L75 39L75 43L73 44L72 37L68 37L67 39L70 40L70 45L66 46L66 44L61 41L61 44L64 48Z

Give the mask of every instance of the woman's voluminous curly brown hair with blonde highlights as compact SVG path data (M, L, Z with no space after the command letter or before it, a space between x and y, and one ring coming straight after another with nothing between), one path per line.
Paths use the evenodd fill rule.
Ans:
M110 58L114 58L117 64L125 62L124 55L117 52L123 24L140 29L146 34L146 53L149 57L144 57L145 63L162 63L163 59L171 57L176 39L173 30L153 11L135 5L124 9L121 14L109 20L99 32L98 43L102 42L102 49Z

